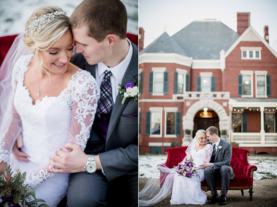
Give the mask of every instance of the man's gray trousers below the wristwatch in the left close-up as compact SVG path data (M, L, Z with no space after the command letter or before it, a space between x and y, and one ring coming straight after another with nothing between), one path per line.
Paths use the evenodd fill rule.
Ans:
M107 182L101 170L94 174L71 173L67 189L67 206L137 207L138 185L138 174L123 175Z

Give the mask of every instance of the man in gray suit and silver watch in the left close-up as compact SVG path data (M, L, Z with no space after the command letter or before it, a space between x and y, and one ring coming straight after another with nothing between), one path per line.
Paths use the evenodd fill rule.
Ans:
M71 173L67 205L138 206L138 101L122 104L118 84L138 81L138 47L126 39L127 12L119 0L85 0L70 16L72 62L89 71L100 100L85 152L58 150L53 173ZM85 154L86 153L86 154ZM95 168L95 170L94 170Z

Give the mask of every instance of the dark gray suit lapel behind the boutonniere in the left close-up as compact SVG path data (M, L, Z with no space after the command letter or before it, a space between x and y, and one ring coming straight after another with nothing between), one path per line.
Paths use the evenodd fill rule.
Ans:
M135 79L135 76L138 76L138 48L132 43L133 46L133 54L132 58L130 61L130 64L128 65L128 68L123 76L122 83L121 85L125 85L128 82L134 83L137 82L138 80ZM108 132L107 132L107 137L106 137L106 143L107 140L110 138L111 132L114 130L114 127L116 126L122 111L126 107L127 103L129 101L134 101L134 98L127 98L124 102L124 104L121 104L122 94L118 92L113 110L110 115L110 122L108 126Z

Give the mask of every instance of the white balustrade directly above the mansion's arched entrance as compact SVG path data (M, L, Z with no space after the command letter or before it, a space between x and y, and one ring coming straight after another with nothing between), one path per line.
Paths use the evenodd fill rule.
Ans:
M214 99L214 100L229 100L230 92L196 92L186 91L184 94L172 94L173 99Z

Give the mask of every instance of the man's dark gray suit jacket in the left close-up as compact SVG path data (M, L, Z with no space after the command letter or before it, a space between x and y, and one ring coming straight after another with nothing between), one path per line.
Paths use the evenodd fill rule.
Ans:
M132 43L133 54L123 76L122 85L138 81L138 46ZM79 68L87 70L95 77L95 65L90 65L82 56L75 54L71 60ZM114 89L113 89L114 90ZM116 89L117 90L117 89ZM127 98L122 105L122 94L118 93L110 115L106 141L93 129L86 145L86 154L99 154L102 168L108 181L125 174L138 174L138 114L139 103Z

